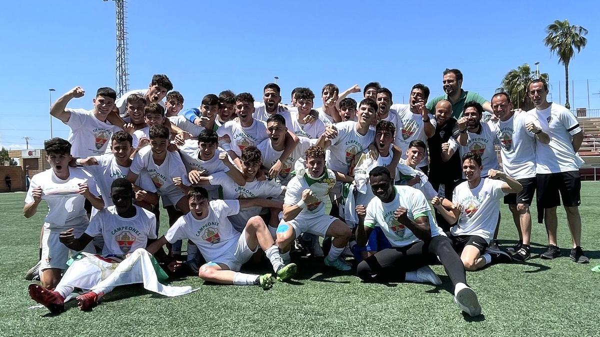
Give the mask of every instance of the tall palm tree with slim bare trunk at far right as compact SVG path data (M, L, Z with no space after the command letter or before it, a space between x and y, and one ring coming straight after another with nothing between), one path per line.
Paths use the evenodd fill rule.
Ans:
M569 20L554 20L554 23L546 27L547 37L544 44L550 48L551 53L556 53L559 63L565 65L565 107L571 109L569 104L569 62L575 56L575 49L579 53L587 44L587 29L572 25Z

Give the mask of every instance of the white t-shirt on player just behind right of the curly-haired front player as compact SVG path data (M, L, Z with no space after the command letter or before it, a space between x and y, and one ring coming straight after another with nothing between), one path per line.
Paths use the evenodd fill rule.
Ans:
M335 124L338 130L338 136L331 140L331 146L328 149L327 167L334 171L347 174L350 164L356 155L368 149L375 138L375 131L368 130L362 136L356 131L358 122L346 121Z

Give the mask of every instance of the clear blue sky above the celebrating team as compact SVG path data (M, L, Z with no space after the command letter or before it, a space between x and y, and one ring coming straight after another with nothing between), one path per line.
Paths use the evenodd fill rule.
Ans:
M506 72L540 62L554 101L565 103L565 74L542 42L544 28L569 19L589 30L571 63L575 104L600 108L600 2L404 1L130 1L130 89L167 74L196 107L203 95L231 89L257 100L280 78L284 101L296 86L319 97L325 83L346 89L373 80L406 100L415 83L442 94L442 71L459 68L463 88L491 97ZM70 107L91 108L100 86L115 86L115 4L112 1L5 2L0 14L0 145L40 148L53 100L76 85L86 96ZM559 80L560 88L559 92ZM320 97L316 100L320 106ZM54 136L68 129L54 120Z

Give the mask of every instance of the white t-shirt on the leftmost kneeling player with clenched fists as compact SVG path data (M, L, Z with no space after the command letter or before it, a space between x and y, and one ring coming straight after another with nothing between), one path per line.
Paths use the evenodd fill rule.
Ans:
M67 180L57 177L52 169L41 171L31 178L25 196L25 203L32 203L34 201L33 190L41 187L41 198L48 204L48 214L44 218L44 227L49 228L51 231L61 231L68 228L83 230L88 225L88 216L83 207L85 197L77 193L80 183L88 183L89 191L94 195L100 195L94 177L78 167L69 167Z

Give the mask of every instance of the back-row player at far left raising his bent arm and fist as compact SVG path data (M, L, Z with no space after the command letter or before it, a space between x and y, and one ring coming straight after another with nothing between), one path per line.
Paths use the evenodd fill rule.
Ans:
M76 86L58 98L50 108L50 115L60 119L70 128L68 142L73 146L71 155L76 158L104 154L112 134L121 130L106 122L106 117L115 106L116 92L113 89L98 89L96 97L92 100L92 110L67 109L69 101L83 97L84 94L83 88ZM123 106L125 109L125 104Z

